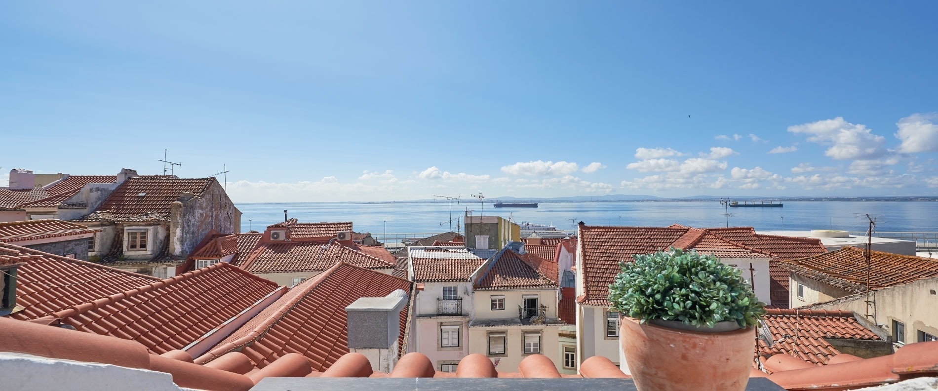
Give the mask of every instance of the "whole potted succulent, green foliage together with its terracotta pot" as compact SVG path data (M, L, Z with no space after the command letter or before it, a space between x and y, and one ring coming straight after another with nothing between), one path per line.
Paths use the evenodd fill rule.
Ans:
M638 389L746 389L765 303L741 271L680 248L634 258L620 263L609 301Z

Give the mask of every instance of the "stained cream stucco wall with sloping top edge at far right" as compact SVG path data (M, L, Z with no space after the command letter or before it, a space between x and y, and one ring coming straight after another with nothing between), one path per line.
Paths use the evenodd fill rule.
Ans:
M866 294L855 294L811 308L846 309L864 315L866 298ZM872 291L870 301L873 322L883 324L890 335L895 333L893 321L905 324L905 343L917 342L918 331L938 336L938 278Z

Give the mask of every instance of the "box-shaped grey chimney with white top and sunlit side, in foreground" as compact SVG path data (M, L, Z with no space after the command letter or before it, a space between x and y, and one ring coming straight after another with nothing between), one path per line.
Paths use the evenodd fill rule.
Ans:
M407 293L394 291L385 297L362 297L345 308L349 352L362 353L371 370L389 373L398 363L401 309Z

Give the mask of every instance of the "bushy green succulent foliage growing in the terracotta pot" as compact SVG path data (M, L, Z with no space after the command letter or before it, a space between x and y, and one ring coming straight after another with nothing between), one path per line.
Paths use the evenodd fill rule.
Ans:
M609 286L613 308L645 323L680 321L701 327L735 322L758 326L765 303L756 298L741 270L713 255L671 248L635 255Z

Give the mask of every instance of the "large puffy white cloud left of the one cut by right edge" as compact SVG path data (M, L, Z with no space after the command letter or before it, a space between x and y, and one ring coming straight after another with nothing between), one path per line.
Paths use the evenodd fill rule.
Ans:
M866 126L844 121L843 117L795 125L788 127L788 131L809 135L811 143L830 145L825 151L829 158L876 158L884 153L883 136L872 134Z

